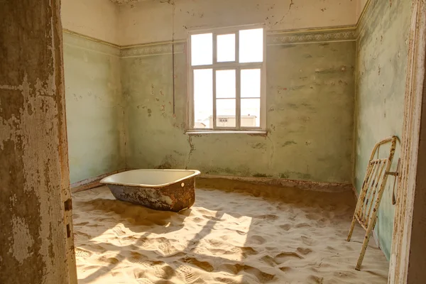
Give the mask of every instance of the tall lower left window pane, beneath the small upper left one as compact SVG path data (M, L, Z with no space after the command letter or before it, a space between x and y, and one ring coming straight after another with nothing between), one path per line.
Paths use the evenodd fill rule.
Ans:
M194 128L212 128L213 117L213 70L194 70Z

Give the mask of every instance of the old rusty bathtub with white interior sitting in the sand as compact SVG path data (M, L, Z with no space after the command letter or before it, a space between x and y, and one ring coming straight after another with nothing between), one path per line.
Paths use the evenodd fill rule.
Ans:
M103 178L117 200L179 212L195 202L198 170L129 170Z

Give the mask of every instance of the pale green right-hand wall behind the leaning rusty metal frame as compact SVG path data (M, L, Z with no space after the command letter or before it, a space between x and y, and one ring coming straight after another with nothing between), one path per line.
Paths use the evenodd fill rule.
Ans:
M354 173L358 191L374 144L388 136L401 137L402 134L410 6L411 1L408 0L372 0L359 26ZM381 153L385 153L384 148ZM399 153L398 144L393 170ZM388 180L375 229L387 258L393 231L393 181L393 178Z

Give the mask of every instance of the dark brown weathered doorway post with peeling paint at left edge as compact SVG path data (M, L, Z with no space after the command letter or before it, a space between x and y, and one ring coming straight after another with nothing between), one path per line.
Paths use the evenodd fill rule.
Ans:
M62 73L60 0L0 1L2 284L74 283Z

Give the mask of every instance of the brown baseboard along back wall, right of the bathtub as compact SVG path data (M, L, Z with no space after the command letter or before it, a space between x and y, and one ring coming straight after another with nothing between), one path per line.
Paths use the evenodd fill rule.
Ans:
M225 180L236 180L240 182L250 182L257 185L275 185L282 187L297 187L301 190L315 190L321 192L344 192L352 190L349 183L339 182L312 182L306 180L286 180L283 178L256 178L256 177L240 177L234 175L200 175L200 178L214 179L220 178Z

